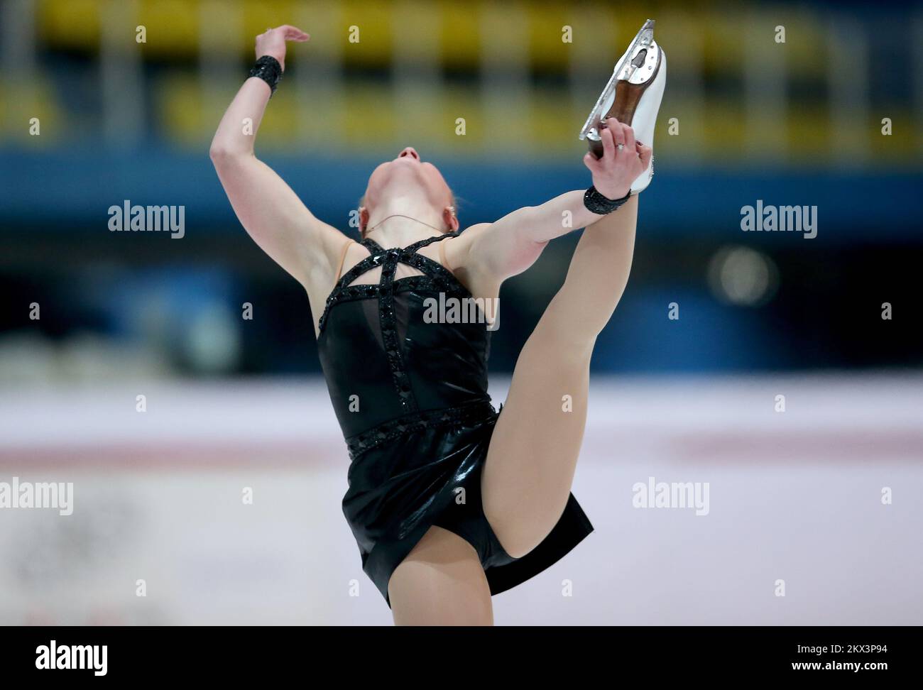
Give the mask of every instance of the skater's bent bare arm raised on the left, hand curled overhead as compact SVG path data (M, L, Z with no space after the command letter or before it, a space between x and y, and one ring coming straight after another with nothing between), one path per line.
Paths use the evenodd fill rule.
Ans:
M257 57L270 55L284 68L285 42L307 39L304 31L287 25L267 30L257 37ZM333 282L344 237L318 220L291 187L254 155L254 139L270 95L266 81L246 79L211 142L211 161L246 232L305 286L309 297L322 295ZM317 305L311 306L315 311Z

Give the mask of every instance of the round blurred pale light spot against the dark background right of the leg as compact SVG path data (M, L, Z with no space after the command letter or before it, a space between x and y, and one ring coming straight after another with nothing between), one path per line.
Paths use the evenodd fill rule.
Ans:
M722 302L761 306L773 299L779 287L779 269L756 249L725 246L709 262L708 283Z

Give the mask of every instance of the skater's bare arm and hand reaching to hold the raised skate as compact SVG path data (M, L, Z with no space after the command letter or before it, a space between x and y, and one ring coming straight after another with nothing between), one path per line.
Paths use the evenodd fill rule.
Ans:
M603 158L597 160L587 153L583 162L593 173L593 186L600 194L621 198L647 169L651 148L636 142L631 127L615 118L606 121L601 134ZM519 208L496 222L474 226L459 236L455 246L447 246L450 264L498 281L521 273L532 266L550 240L605 218L583 205L584 191L566 192L541 206Z

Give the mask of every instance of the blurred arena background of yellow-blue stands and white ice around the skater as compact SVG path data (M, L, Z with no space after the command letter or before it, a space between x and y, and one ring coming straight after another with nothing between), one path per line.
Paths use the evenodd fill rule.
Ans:
M589 184L577 133L645 18L669 71L593 359L573 491L596 532L497 623L923 623L923 6L454 0L0 2L0 482L76 493L0 509L0 623L389 623L306 296L210 138L254 36L291 23L311 40L257 152L318 217L355 235L368 174L413 145L463 226L496 220ZM184 236L110 232L126 200L184 207ZM817 236L742 232L758 200L817 207ZM576 240L504 285L496 401ZM652 476L709 482L709 515L633 508Z

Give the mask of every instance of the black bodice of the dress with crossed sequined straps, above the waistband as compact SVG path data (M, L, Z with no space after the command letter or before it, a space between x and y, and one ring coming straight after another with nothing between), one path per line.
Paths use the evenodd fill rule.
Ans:
M455 234L390 249L366 239L369 256L330 293L318 323L318 351L347 439L383 438L389 424L402 429L489 403L490 331L483 320L440 317L447 303L471 300L471 292L417 251ZM396 280L399 264L422 275ZM351 284L379 267L378 283Z

